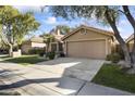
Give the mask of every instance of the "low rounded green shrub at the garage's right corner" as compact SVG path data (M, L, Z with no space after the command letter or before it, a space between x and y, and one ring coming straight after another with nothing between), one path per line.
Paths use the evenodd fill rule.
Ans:
M121 60L121 55L119 53L108 54L106 60L111 61L112 63L118 63Z

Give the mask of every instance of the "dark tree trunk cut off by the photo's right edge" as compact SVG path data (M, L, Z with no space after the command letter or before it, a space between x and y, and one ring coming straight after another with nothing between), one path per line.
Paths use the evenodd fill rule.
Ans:
M128 73L135 74L135 20L132 16L127 5L123 5L123 10L124 10L124 14L125 14L126 18L128 20L128 22L131 23L131 25L134 29L134 45L133 45L133 49L132 49L132 53L131 53L133 68L130 70Z

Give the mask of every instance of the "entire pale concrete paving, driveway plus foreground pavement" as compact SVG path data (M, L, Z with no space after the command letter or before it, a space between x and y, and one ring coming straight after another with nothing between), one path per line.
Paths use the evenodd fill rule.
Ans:
M63 58L23 66L0 62L0 91L32 96L133 94L91 84L103 61Z

